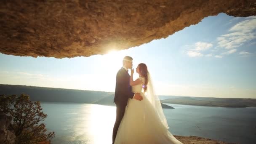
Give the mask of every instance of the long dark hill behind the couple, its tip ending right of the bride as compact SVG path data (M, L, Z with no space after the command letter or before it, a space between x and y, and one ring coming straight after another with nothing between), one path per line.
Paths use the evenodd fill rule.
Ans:
M113 103L114 93L111 92L0 84L0 94L19 96L21 93L29 95L32 101L77 102L115 106ZM173 109L173 107L165 104L162 104L162 107Z

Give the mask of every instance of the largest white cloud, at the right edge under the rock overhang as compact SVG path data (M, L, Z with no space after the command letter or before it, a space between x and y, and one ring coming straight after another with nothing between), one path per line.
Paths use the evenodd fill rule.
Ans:
M233 49L256 38L256 16L251 16L229 29L228 34L217 37L218 47Z

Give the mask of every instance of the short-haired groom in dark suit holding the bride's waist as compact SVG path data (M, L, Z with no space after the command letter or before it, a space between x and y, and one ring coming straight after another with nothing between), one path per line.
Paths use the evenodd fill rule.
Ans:
M140 93L134 94L131 92L130 75L128 74L128 69L131 69L132 66L133 58L131 58L131 56L125 56L123 58L123 67L117 72L114 98L114 103L117 106L117 114L113 128L112 144L115 142L118 127L121 123L123 115L125 114L125 107L127 105L128 99L137 99L139 101L143 99Z

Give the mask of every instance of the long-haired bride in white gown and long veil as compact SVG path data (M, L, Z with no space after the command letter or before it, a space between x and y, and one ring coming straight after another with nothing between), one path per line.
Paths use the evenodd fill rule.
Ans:
M128 100L115 144L182 144L168 131L146 64L139 64L136 72L139 78L133 81L134 70L131 69L130 85L133 93L141 93L143 100Z

